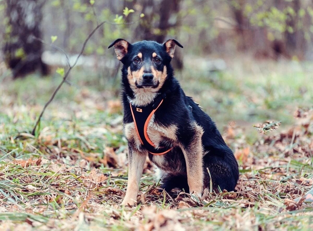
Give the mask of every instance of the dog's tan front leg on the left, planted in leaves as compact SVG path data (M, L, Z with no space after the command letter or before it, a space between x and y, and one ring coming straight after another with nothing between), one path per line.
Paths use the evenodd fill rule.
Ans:
M134 205L137 203L139 181L145 162L146 155L136 151L131 145L128 145L128 182L126 195L121 205Z

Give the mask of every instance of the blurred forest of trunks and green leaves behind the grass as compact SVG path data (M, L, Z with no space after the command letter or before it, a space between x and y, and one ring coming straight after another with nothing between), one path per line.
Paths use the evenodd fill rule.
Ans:
M46 74L46 67L35 56L49 47L43 47L33 36L46 42L57 36L55 45L69 54L77 54L86 35L104 20L108 23L95 33L84 52L94 57L89 65L95 68L99 65L104 68L104 63L111 59L112 51L106 47L116 38L162 43L175 37L186 47L184 54L200 56L229 57L242 52L256 59L313 59L310 0L1 0L0 3L2 57L13 68L14 76L23 76L27 69L33 71L40 66ZM130 11L123 13L124 9ZM44 62L51 64L49 58ZM21 59L28 64L21 64ZM181 52L175 62L182 68ZM23 68L17 70L16 65ZM106 71L108 68L105 67Z

